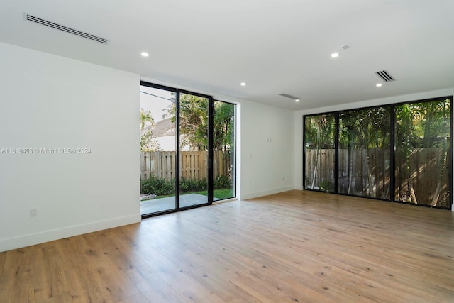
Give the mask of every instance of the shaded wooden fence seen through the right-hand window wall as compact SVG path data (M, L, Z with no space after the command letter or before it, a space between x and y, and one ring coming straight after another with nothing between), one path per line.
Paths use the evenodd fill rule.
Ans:
M305 187L334 191L335 150L306 150ZM339 192L390 199L389 149L339 150ZM408 157L395 153L394 199L449 207L449 168L442 148L415 148ZM314 178L315 176L315 178ZM438 188L440 187L440 188ZM436 204L434 204L436 203Z

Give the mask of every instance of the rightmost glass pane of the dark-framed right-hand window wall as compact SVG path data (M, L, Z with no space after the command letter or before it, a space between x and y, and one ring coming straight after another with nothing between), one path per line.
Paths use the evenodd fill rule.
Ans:
M450 208L450 100L396 106L394 199Z

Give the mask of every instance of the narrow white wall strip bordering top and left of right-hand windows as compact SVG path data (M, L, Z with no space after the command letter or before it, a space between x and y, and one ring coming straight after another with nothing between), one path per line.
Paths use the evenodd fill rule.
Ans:
M431 99L436 97L447 97L454 95L454 88L443 89L432 92L423 92L419 94L406 94L402 96L389 97L384 99L375 99L362 102L355 102L350 104L341 104L338 106L328 106L319 109L311 109L306 111L297 111L294 113L295 125L294 125L294 142L295 142L295 159L294 165L296 167L294 180L295 188L303 189L303 116L308 114L319 114L329 111L341 111L344 109L358 109L367 106L376 106L383 104L393 104L406 101L416 101L422 99ZM454 208L453 208L454 211Z

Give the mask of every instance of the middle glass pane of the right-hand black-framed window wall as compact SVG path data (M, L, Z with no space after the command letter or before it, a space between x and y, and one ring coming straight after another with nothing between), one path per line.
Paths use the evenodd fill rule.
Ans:
M390 109L339 114L338 192L390 199Z

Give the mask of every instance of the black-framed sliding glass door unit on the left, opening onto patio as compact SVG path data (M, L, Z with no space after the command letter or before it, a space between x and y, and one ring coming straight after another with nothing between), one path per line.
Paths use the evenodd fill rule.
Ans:
M234 154L235 104L141 83L140 214L235 197Z

